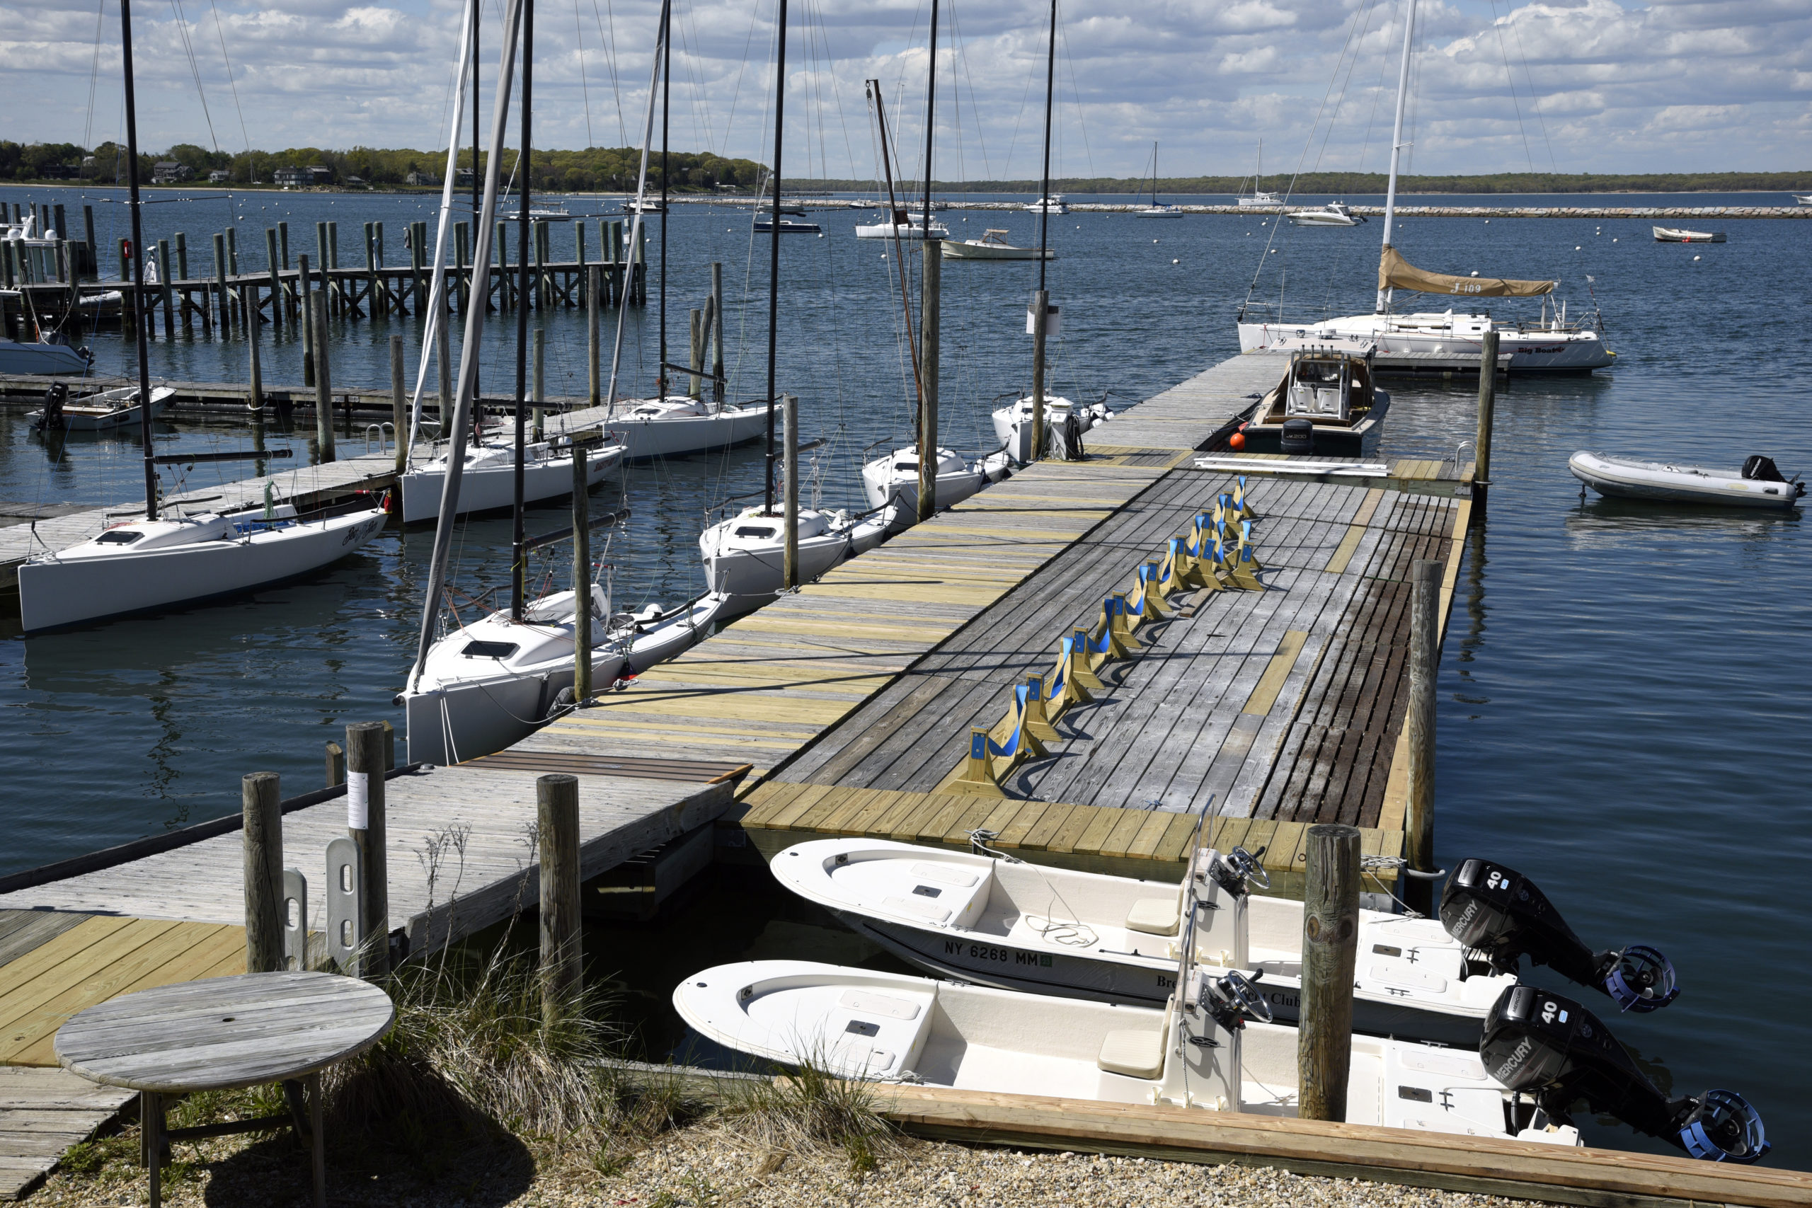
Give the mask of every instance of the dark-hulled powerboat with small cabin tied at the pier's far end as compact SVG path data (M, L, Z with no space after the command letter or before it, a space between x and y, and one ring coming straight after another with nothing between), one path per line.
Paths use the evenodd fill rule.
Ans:
M1243 453L1357 456L1383 422L1390 395L1372 380L1370 355L1316 350L1290 355L1283 380L1239 426ZM1229 436L1229 444L1234 438Z

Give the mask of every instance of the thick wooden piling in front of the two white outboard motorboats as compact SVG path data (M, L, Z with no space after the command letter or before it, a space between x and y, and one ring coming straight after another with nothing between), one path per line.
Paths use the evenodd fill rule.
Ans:
M1297 1116L1346 1119L1354 1049L1354 965L1359 954L1359 828L1305 833L1303 998L1296 1031Z

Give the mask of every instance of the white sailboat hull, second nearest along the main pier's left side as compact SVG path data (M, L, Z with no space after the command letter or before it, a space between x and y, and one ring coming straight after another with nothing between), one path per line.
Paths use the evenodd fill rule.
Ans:
M710 590L732 596L730 610L747 612L785 587L785 518L763 507L705 529L698 538ZM810 583L846 558L866 554L888 534L886 513L799 511L799 581Z

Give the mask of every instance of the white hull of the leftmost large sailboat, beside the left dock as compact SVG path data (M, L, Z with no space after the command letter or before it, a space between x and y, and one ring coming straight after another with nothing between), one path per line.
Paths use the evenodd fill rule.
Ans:
M18 569L20 619L33 634L237 596L339 561L382 527L370 509L143 552L65 551Z

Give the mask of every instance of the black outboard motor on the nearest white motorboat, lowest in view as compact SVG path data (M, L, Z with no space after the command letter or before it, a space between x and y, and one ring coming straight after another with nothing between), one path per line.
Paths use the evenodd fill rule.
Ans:
M1752 1163L1769 1152L1761 1116L1734 1090L1669 1099L1616 1038L1571 998L1513 985L1484 1020L1479 1056L1511 1090L1531 1094L1551 1119L1586 1099L1651 1137L1707 1161Z

